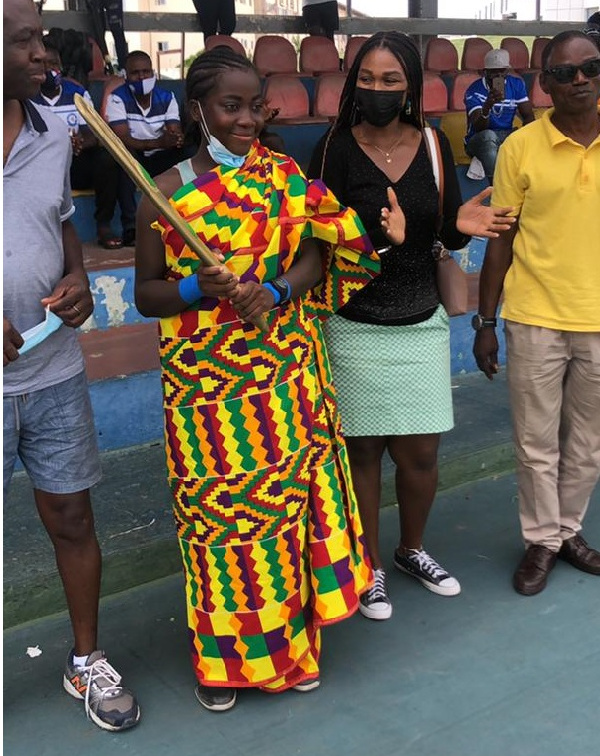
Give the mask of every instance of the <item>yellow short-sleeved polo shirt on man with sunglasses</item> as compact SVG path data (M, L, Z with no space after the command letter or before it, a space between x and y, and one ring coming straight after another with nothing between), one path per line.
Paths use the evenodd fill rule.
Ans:
M561 331L600 331L600 136L586 149L553 109L501 146L492 204L519 217L501 315Z

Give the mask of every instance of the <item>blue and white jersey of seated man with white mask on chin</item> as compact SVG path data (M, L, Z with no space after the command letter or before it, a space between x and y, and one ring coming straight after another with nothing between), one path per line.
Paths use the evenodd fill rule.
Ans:
M168 123L179 123L179 107L173 92L154 87L150 107L143 110L128 84L122 84L108 97L106 120L111 126L126 123L133 139L159 139ZM152 155L159 150L146 150Z

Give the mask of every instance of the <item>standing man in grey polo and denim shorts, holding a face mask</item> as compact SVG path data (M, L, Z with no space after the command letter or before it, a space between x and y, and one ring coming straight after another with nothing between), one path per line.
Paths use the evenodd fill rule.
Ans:
M75 643L64 688L85 700L99 727L115 732L137 724L140 711L97 650L101 557L89 489L100 478L100 463L74 330L93 303L69 221L71 143L63 122L27 99L45 78L42 26L32 0L5 0L3 15L4 492L20 458L71 616Z

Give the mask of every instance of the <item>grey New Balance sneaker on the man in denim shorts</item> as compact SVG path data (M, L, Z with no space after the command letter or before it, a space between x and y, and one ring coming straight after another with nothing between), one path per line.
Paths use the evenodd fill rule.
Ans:
M135 696L121 686L121 675L106 660L104 651L94 651L83 667L73 664L73 649L67 657L63 688L85 703L85 713L103 730L128 730L140 721Z

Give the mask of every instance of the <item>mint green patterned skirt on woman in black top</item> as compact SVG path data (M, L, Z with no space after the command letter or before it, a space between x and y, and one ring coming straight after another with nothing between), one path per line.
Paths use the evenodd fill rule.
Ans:
M454 425L450 327L440 305L423 323L323 324L346 436L443 433Z

